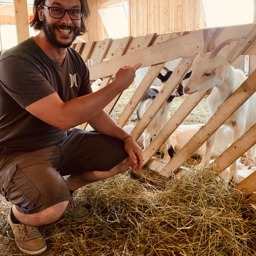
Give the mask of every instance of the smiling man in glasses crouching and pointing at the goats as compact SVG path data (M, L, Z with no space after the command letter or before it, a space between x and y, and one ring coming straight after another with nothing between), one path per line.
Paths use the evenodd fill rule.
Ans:
M86 218L73 191L143 163L137 143L103 111L141 64L92 93L84 61L68 48L86 32L89 14L87 0L35 0L32 26L40 33L0 58L0 188L12 203L16 244L31 255L47 248L36 227L64 211ZM96 132L69 130L84 122Z

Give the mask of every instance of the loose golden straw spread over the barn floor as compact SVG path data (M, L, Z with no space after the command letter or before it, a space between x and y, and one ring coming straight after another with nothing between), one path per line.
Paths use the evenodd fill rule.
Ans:
M204 105L203 101L194 110L204 109L203 114L195 113L195 123L209 119ZM183 123L193 120L189 117ZM136 122L135 113L128 122ZM87 221L73 223L63 216L40 227L48 246L41 255L255 255L256 211L251 202L209 169L198 169L198 163L192 158L186 161L184 165L191 171L181 177L165 178L143 168L145 178L141 180L132 178L128 170L82 187L76 199L90 206ZM160 186L151 185L151 181ZM0 255L24 255L8 225L9 207L6 201L0 204Z

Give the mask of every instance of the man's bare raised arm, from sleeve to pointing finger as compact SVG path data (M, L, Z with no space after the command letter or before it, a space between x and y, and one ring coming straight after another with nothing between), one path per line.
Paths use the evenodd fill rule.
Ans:
M88 122L97 116L119 93L134 81L135 71L141 66L125 66L118 70L116 79L101 90L68 102L63 102L57 93L38 100L25 109L50 125L68 130Z

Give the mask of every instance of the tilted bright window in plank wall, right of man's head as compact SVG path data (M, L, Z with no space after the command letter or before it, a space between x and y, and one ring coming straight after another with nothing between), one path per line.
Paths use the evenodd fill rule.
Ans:
M108 38L123 38L128 36L128 3L99 10L102 22L108 33Z

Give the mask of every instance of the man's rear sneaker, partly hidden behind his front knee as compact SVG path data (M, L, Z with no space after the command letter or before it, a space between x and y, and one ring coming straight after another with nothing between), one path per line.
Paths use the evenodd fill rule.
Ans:
M87 218L89 211L77 204L74 195L71 195L70 201L65 209L64 215L72 221L84 221Z

